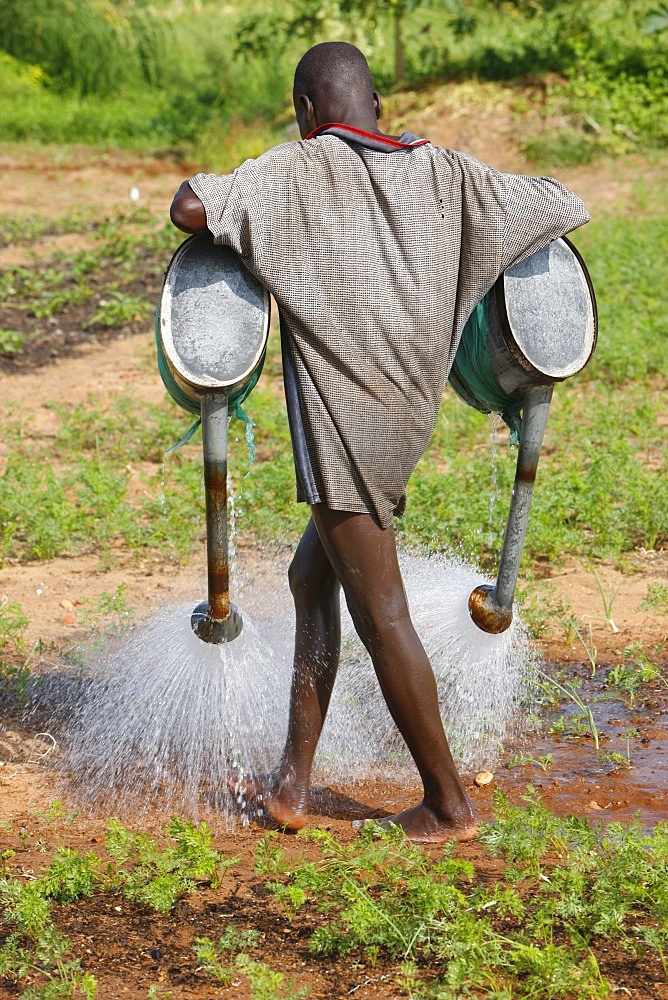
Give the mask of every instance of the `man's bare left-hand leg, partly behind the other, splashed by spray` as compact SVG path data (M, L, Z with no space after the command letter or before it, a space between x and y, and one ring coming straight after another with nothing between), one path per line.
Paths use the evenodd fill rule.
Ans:
M308 815L311 765L341 650L340 586L312 520L288 576L296 634L285 750L272 774L244 777L237 790L257 799L276 822L298 830Z

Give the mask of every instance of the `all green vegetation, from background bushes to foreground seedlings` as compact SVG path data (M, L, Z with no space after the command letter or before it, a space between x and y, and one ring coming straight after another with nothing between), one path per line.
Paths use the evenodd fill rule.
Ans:
M597 289L601 336L586 372L555 393L526 542L534 568L573 555L592 565L623 564L638 547L668 543L661 423L668 264L659 252L668 216L651 176L668 136L666 23L665 4L655 0L453 0L445 7L429 0L259 0L250 9L213 0L0 0L0 133L10 141L169 149L227 169L293 134L291 73L301 50L313 40L348 37L369 52L385 90L476 78L491 93L510 83L518 114L531 105L526 151L541 165L643 153L650 176L633 194L633 217L611 211L575 237ZM419 95L407 106L411 101ZM113 218L0 221L2 245L86 237L86 249L3 269L5 370L42 363L49 326L103 339L150 325L156 283L180 239L164 220L142 209ZM305 519L293 500L279 380L274 330L248 403L253 474L245 478L247 443L234 426L231 469L237 530L277 544L292 542ZM7 413L0 565L95 551L105 568L117 548L123 558L129 551L185 560L203 530L199 448L180 449L166 465L163 454L189 418L169 400L152 406L130 393L109 403L91 394L53 413L48 442L20 408ZM495 424L446 396L410 486L399 526L404 544L456 547L496 564L515 468L515 453L499 448L501 439ZM602 576L599 590L613 630L614 588ZM615 700L635 707L652 685L666 684L659 650L634 643L619 663L602 668L591 631L579 628L563 598L548 595L538 608L528 596L526 607L536 632L552 616L579 637L591 674ZM666 587L650 585L641 608L668 613ZM127 621L130 614L121 586L81 605L76 617L97 627L110 615ZM27 625L23 609L2 598L3 699L20 702L30 680ZM560 674L540 681L544 700L566 707L554 735L586 737L601 763L631 766L633 733L626 757L606 754L583 686ZM537 768L542 777L553 759L521 752L509 765ZM50 828L59 816L60 807L50 811ZM27 836L16 832L19 840ZM668 973L665 824L652 833L639 823L595 827L552 816L531 790L519 806L497 795L481 852L483 862L500 858L502 865L488 865L484 877L454 845L428 853L373 826L352 846L325 831L297 843L308 857L295 860L293 851L288 858L273 835L257 853L263 908L273 907L280 933L299 927L312 955L343 957L367 973L385 963L392 987L415 1000L604 997L617 990L604 971L610 948ZM215 850L207 824L178 817L159 842L111 820L104 851L61 845L29 876L13 858L12 849L0 853L0 980L25 1000L95 995L78 942L59 929L69 910L113 893L124 906L168 920L195 892L227 900L223 873L235 864ZM193 934L193 975L213 988L241 977L254 1000L303 996L303 987L265 961L257 911L237 904L239 919L213 936ZM154 986L148 995L169 990Z

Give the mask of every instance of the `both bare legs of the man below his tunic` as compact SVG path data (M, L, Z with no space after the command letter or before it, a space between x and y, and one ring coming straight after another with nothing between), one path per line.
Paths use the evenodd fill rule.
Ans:
M339 661L340 581L424 787L418 806L386 822L416 842L469 839L476 833L473 809L443 731L434 674L410 620L394 531L380 529L367 514L322 505L312 511L290 567L297 631L285 750L275 772L245 779L242 790L277 822L294 830L304 826L311 764Z

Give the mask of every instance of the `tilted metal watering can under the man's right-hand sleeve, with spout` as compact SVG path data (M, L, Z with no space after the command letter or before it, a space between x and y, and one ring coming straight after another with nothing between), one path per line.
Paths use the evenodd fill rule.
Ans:
M468 602L471 618L484 632L503 632L512 621L554 384L582 371L594 352L597 334L589 274L575 247L564 238L505 271L464 328L450 384L464 402L484 413L503 412L507 406L510 416L503 415L511 424L517 417L519 431L515 483L496 585L476 587Z

